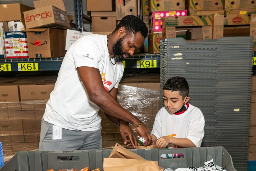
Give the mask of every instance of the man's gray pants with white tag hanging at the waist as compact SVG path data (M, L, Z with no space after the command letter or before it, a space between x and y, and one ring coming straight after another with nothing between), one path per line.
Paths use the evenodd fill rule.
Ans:
M39 151L102 149L101 128L89 132L62 128L62 139L52 140L52 125L42 118Z

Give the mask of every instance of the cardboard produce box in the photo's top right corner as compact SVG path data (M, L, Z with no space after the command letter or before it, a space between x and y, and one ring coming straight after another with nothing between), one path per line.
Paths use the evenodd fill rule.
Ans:
M252 0L225 0L225 9L246 9L256 8L255 1Z

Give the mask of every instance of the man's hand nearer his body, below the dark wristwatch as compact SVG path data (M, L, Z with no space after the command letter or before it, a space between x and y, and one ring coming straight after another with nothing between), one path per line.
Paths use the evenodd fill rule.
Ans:
M133 148L135 149L135 145L137 145L137 138L131 127L127 125L127 123L123 120L120 121L120 134L123 137L124 144L126 145L127 142L131 142L130 144L127 144L127 147L132 145ZM127 136L129 136L130 140L126 138Z

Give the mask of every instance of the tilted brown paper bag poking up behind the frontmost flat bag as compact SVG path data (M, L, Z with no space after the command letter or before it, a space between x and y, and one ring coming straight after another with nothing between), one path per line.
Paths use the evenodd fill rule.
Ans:
M124 148L123 146L121 146L118 143L115 144L115 147L114 147L113 151L111 152L111 154L109 155L109 158L137 159L137 160L141 160L141 163L143 163L142 160L148 161L148 160L144 159L143 157L131 152L130 150L127 150L126 148ZM104 170L104 163L105 163L105 160L103 162L103 170ZM114 166L115 166L115 164L116 164L116 162L113 163ZM157 166L158 166L158 163L157 163ZM121 170L123 170L123 168ZM164 168L158 167L157 170L163 171ZM138 170L138 171L142 171L142 170Z

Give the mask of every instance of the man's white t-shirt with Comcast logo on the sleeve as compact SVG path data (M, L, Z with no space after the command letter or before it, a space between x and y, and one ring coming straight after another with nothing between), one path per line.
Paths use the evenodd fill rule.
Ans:
M115 60L111 60L115 64ZM69 47L63 59L43 118L65 129L95 131L101 128L99 107L89 100L79 79L77 67L81 66L98 68L108 92L118 88L124 71L122 62L111 64L106 35L81 37Z

